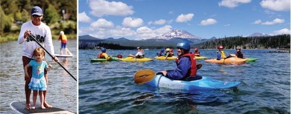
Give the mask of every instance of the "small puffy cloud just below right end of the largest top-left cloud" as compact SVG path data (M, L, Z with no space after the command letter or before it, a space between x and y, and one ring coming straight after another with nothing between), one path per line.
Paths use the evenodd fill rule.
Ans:
M125 27L140 27L143 25L143 19L141 18L131 18L131 17L125 17L122 21L122 25Z

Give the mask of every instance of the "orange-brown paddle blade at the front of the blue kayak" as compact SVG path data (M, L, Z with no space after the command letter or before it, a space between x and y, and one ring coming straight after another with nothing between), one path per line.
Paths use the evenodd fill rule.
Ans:
M136 84L142 84L148 81L151 81L156 76L156 73L153 70L139 70L134 74L134 82Z

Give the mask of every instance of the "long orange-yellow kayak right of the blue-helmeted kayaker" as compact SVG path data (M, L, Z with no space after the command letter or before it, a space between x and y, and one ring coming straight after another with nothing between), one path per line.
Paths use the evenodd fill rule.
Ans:
M208 59L205 60L205 62L210 62L210 63L243 63L246 62L247 59L241 59L241 58L237 58L237 57L230 57L227 59L221 59L221 60L216 60L216 59Z

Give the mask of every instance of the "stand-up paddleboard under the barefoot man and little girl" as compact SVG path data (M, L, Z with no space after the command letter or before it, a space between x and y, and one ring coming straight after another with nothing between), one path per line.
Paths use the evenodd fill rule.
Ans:
M39 103L36 103L35 109L24 109L25 105L26 101L13 101L10 103L11 109L21 114L74 114L56 107L42 109Z

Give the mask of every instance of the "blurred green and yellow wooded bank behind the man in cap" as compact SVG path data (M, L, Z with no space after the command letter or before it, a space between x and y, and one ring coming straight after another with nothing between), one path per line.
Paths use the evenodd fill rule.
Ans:
M43 10L42 22L57 39L64 31L68 39L76 39L77 0L0 0L0 42L17 40L22 23L31 20L31 9Z

